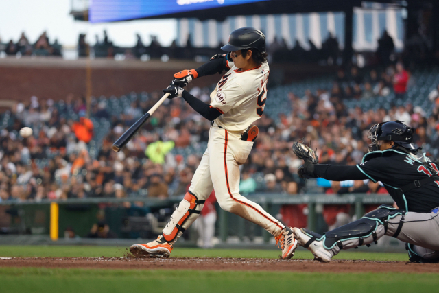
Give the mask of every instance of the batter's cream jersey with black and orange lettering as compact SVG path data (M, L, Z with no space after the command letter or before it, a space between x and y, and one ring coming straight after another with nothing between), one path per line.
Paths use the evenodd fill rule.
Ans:
M270 68L267 62L245 71L227 65L230 70L211 93L211 107L222 113L215 122L230 131L246 130L262 116Z

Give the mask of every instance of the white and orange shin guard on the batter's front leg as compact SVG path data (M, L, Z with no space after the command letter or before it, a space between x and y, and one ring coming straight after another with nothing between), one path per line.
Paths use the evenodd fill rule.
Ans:
M182 226L192 213L200 214L205 200L198 200L194 194L187 192L185 198L178 204L177 209L171 215L171 219L163 229L163 238L167 242L172 242L177 237L178 232L185 232Z

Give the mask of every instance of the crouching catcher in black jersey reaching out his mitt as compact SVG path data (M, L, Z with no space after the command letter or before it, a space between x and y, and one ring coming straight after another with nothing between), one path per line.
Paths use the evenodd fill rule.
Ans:
M312 150L294 143L293 150L305 163L298 169L302 178L381 181L399 209L381 205L363 218L319 235L293 228L300 246L318 261L329 262L341 249L370 246L383 235L406 242L412 262L439 262L439 176L436 159L412 143L414 129L401 121L372 126L372 140L359 165L322 165Z

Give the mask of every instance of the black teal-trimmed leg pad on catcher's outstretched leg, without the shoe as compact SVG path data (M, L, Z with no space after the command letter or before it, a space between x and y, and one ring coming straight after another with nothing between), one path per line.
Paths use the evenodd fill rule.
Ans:
M388 221L397 215L405 215L405 211L382 205L357 221L325 233L324 246L327 249L332 249L335 245L340 249L348 249L361 245L370 246L372 242L376 244L377 240L387 233ZM396 237L399 231L396 231L393 237Z

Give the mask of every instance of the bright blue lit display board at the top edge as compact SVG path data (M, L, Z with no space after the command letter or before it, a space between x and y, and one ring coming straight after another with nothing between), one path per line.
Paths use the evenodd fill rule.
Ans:
M127 21L268 0L91 0L89 21Z

